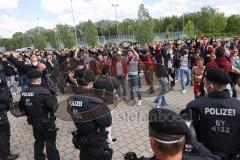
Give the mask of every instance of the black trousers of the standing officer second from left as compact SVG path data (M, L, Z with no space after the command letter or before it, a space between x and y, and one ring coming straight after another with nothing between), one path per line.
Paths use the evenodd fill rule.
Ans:
M46 143L46 152L48 160L60 160L59 152L56 147L57 130L55 122L33 122L34 142L34 159L45 160L43 153L44 144Z

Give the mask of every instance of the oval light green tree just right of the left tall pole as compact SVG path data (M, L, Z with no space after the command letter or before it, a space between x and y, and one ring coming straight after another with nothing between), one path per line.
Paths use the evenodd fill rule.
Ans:
M88 20L88 22L84 26L83 32L87 44L90 46L95 46L97 44L98 32L96 26L93 24L92 21Z

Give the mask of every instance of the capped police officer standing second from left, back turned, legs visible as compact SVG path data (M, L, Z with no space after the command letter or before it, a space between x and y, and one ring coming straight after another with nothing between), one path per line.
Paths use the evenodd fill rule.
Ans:
M19 108L26 112L28 123L33 126L34 159L45 160L43 153L44 143L48 160L59 160L56 148L57 128L55 125L55 112L58 108L57 98L49 90L41 87L41 72L31 70L29 88L21 93Z

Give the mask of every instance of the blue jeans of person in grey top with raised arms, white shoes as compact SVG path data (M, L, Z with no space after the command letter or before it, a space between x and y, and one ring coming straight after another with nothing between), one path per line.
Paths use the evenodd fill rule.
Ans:
M131 100L134 100L134 93L137 94L138 99L141 100L142 96L139 90L139 76L138 75L129 75L128 84L130 89Z

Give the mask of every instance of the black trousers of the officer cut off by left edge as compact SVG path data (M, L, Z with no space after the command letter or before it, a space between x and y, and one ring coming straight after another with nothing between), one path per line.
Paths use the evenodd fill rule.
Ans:
M5 159L10 155L10 124L7 115L0 117L0 159Z

